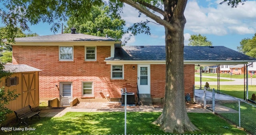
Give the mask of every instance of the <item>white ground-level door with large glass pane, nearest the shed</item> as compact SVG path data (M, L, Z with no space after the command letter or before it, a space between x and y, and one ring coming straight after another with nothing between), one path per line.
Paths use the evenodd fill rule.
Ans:
M60 105L70 106L72 100L72 83L60 83Z

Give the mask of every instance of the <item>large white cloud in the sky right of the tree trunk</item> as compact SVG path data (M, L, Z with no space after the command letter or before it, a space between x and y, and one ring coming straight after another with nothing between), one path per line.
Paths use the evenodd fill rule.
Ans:
M256 32L256 1L247 1L244 5L231 8L221 0L211 3L211 7L202 7L193 0L185 10L187 20L185 29L196 34L254 34ZM215 6L215 7L214 7ZM250 9L250 10L248 10Z

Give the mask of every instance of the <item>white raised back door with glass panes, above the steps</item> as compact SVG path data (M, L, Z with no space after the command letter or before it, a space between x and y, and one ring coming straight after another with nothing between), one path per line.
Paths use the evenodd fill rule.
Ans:
M150 65L138 65L138 89L140 94L150 94Z

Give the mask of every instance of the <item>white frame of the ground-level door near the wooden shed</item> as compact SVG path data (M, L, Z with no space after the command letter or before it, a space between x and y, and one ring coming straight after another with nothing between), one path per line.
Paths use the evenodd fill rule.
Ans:
M63 84L70 84L70 94L69 92L66 95L63 93ZM70 106L72 100L72 82L61 82L60 83L60 106Z

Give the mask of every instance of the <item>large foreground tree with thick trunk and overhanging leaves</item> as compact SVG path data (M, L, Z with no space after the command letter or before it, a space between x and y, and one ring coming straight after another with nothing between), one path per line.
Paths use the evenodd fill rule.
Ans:
M236 7L246 0L223 0ZM112 16L119 17L124 3L136 8L165 28L166 44L166 87L162 114L154 122L169 133L184 133L198 130L186 113L184 97L184 26L186 18L184 10L187 0L1 0L6 9L0 8L1 18L10 31L8 40L12 41L18 26L28 29L30 24L47 22L53 24L51 30L60 28L61 22L67 18L82 21L92 12L92 6L108 4ZM128 14L128 13L126 13ZM142 24L142 25L140 25ZM134 29L147 28L142 22L134 25ZM138 27L139 26L139 27ZM147 30L147 29L146 29ZM138 32L137 31L137 32ZM142 30L143 31L143 30Z

